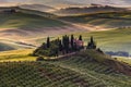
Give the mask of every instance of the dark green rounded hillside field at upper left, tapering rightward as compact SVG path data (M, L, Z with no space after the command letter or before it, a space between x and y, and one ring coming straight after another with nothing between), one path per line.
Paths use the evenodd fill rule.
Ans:
M0 14L0 27L1 28L20 28L20 29L33 29L43 27L62 26L64 23L43 17L35 14L27 13L13 13L13 14Z

